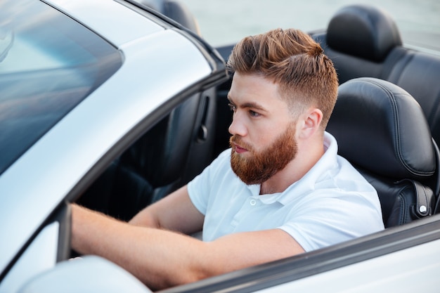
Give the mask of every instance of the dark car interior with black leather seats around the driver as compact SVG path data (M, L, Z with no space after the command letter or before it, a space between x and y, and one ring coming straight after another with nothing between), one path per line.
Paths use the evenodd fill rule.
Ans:
M198 33L176 1L139 1ZM394 20L347 6L310 32L335 64L339 97L328 131L377 189L386 227L436 213L440 192L440 56L402 45ZM234 44L217 48L227 60ZM231 79L188 97L103 172L79 204L122 220L186 184L228 148Z

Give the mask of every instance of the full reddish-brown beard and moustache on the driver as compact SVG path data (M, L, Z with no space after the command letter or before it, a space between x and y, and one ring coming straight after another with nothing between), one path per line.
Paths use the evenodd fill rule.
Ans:
M231 167L247 185L264 183L278 171L283 170L292 159L295 159L298 152L294 126L289 126L271 145L259 152L244 143L241 136L231 136L229 143L231 147L233 143L237 143L250 152L250 156L245 157L235 152L233 148L231 150Z

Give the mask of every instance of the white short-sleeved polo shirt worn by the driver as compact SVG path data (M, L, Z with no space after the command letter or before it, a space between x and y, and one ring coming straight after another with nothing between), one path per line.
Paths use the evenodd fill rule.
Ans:
M231 169L231 150L222 152L188 183L190 199L205 215L203 240L280 228L311 251L384 229L376 190L337 155L337 142L327 132L324 147L301 180L270 195L243 183Z

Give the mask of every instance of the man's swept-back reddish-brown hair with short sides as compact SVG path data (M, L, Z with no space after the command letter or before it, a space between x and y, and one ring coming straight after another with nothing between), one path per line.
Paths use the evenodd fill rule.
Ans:
M337 99L337 74L308 34L276 29L245 37L233 48L227 68L232 74L260 74L278 84L294 115L315 107L323 112L321 127L327 126Z

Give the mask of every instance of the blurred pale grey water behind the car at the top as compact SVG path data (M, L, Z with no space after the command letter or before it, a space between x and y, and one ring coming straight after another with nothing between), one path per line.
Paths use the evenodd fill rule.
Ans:
M406 46L440 49L440 0L180 0L197 18L213 46L250 34L295 27L305 32L327 27L339 8L372 4L396 21Z

